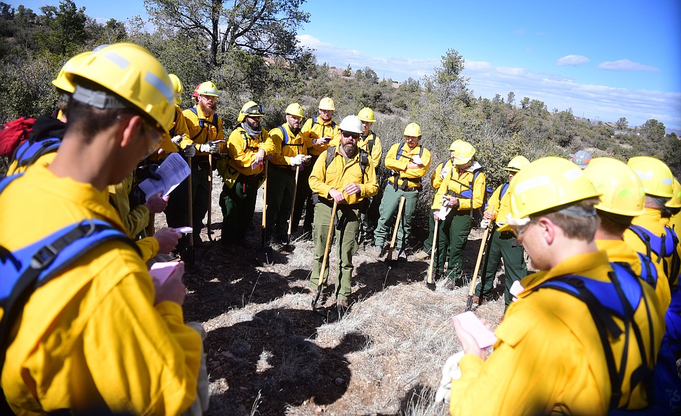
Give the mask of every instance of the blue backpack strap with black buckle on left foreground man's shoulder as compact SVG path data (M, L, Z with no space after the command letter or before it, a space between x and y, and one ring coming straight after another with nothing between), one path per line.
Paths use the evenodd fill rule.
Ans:
M9 179L9 178L8 178ZM11 179L10 179L11 180ZM31 294L98 245L118 239L139 249L124 232L100 220L83 220L57 230L24 248L0 250L0 364L4 364L10 332Z

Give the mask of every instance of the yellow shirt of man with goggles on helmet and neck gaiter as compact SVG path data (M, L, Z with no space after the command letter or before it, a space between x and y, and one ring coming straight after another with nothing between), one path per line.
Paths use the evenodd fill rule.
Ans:
M265 155L274 153L274 144L268 131L262 132L255 138L250 137L243 127L239 126L230 133L222 146L221 153L229 155L229 165L235 168L241 175L259 175L264 168L264 164L252 168L255 156L258 151L263 149Z

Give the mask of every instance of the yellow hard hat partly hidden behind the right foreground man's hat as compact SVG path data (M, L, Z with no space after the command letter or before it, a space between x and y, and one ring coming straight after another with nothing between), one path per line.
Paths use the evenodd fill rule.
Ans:
M625 162L611 157L596 157L584 175L601 195L596 208L613 214L638 217L645 214L645 190L641 179Z

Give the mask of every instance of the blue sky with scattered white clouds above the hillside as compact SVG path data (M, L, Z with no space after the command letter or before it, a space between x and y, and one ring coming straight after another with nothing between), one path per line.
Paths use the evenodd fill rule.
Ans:
M19 1L36 12L54 1ZM90 17L125 21L144 2L76 1ZM403 81L431 74L448 49L466 60L475 96L514 91L551 111L629 126L681 129L681 1L308 0L299 41L318 63Z

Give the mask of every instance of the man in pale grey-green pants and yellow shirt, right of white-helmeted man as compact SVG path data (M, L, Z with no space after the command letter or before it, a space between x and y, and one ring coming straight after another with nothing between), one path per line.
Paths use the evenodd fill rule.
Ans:
M411 235L411 217L416 210L418 194L421 190L421 179L431 166L431 152L419 144L421 127L416 123L407 124L404 128L404 143L390 146L385 155L385 167L391 171L378 212L380 217L374 231L376 241L374 252L382 256L388 240L393 217L404 197L404 208L397 235L395 248L398 258L407 259L407 244Z

